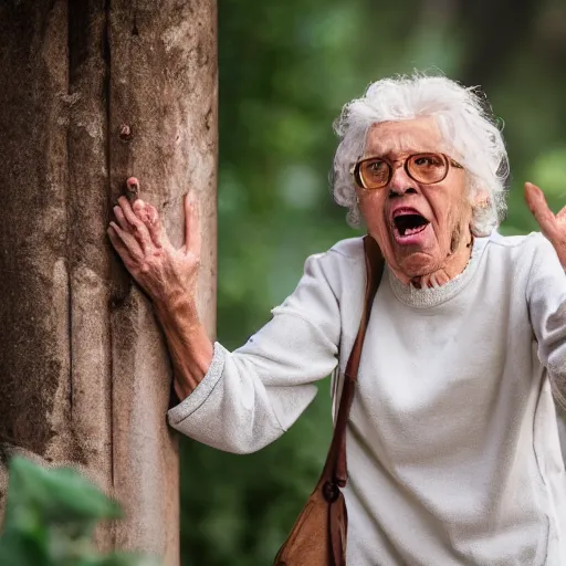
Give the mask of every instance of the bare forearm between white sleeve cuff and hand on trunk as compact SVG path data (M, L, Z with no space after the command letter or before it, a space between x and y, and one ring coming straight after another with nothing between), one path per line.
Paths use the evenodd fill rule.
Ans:
M184 400L206 376L213 345L199 321L195 302L187 294L155 303L155 311L174 365L175 391Z

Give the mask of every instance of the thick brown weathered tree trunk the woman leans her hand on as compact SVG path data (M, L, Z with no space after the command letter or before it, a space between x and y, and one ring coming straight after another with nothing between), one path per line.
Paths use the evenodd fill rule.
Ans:
M212 336L216 49L205 0L0 2L0 457L80 467L127 513L101 547L166 565L179 560L170 366L106 228L135 175L180 245L182 196L198 195Z

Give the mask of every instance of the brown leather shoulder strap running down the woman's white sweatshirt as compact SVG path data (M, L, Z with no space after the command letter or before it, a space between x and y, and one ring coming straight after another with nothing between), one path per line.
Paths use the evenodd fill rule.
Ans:
M370 237L364 238L364 251L366 256L366 293L364 301L364 311L359 323L358 333L354 340L346 371L344 374L344 386L342 389L338 415L334 427L331 449L324 467L323 475L336 483L340 488L346 485L348 479L346 465L346 426L349 417L349 409L354 400L356 381L358 378L359 360L361 357L361 347L366 337L367 324L371 313L371 306L376 296L377 287L384 273L384 258L377 242Z

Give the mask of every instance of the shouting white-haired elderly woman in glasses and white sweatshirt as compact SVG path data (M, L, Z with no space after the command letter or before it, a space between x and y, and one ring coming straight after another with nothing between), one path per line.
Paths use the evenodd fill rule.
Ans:
M448 78L378 81L336 130L335 199L386 260L347 430L348 564L564 566L563 217L527 184L544 235L497 233L503 139L480 96ZM120 199L115 214L109 238L175 364L172 427L253 452L293 424L316 380L343 374L364 303L360 238L308 258L271 322L230 353L195 307L193 203L180 250L150 205Z

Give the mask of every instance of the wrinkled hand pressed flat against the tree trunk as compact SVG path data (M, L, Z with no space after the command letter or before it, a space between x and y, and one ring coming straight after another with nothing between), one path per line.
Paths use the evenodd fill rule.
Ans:
M127 185L139 186L135 177ZM180 297L193 301L201 243L196 202L185 196L185 244L179 249L169 241L154 206L142 199L130 205L126 197L118 205L108 237L132 276L159 306L172 305Z

